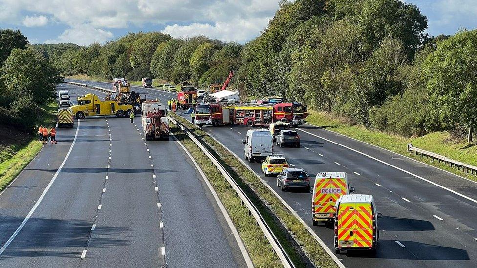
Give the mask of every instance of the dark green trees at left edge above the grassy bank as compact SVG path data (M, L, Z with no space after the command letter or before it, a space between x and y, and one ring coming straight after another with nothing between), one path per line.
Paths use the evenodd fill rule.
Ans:
M0 125L31 133L63 78L19 30L0 29L0 66Z

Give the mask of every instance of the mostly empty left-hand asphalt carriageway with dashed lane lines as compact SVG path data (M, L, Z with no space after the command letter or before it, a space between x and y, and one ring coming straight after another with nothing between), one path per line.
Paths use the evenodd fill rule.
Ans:
M105 97L60 89L74 102ZM57 129L58 144L0 194L0 267L247 267L185 151L172 137L146 143L134 123L91 117Z

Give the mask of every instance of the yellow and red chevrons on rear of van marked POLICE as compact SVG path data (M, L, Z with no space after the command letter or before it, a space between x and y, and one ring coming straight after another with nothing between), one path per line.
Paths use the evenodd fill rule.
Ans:
M313 197L315 213L335 213L336 200L347 194L347 185L344 179L321 179L315 183Z

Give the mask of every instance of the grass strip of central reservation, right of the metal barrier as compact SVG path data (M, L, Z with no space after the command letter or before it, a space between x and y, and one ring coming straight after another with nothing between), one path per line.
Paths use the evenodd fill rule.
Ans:
M333 259L308 232L306 227L304 227L304 225L288 210L288 208L286 208L286 206L283 205L283 203L267 188L267 186L265 186L260 179L257 178L254 172L250 171L239 161L239 159L232 155L221 144L209 137L205 132L177 115L172 113L170 113L170 115L174 119L186 125L197 137L201 138L212 149L211 151L218 156L219 161L223 162L222 164L224 164L225 167L228 167L228 171L232 174L232 176L234 176L233 174L236 174L237 177L234 177L237 182L241 184L241 186L247 186L250 191L253 191L253 194L256 196L256 198L260 199L260 203L264 204L266 209L269 209L273 213L273 217L276 217L282 226L286 228L288 234L294 239L296 247L299 248L292 248L293 245L283 245L286 243L286 239L284 237L279 237L279 240L282 243L282 239L284 239L282 245L285 247L285 250L290 257L292 257L295 263L299 262L300 258L300 253L297 253L297 251L301 251L316 267L337 267ZM221 178L221 180L223 180L223 178ZM247 194L250 193L247 192ZM268 220L267 223L271 224ZM302 263L297 266L304 265L305 264Z

